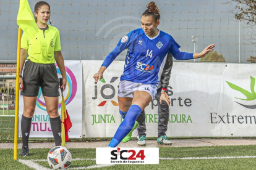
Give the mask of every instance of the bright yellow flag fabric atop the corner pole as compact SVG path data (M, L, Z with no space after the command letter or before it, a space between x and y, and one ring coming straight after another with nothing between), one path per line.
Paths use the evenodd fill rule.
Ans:
M38 33L35 18L28 4L28 0L20 0L17 24L30 38L34 38Z

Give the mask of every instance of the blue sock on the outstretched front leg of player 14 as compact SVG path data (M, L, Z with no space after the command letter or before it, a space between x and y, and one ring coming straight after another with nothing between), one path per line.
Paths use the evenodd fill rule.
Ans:
M121 140L127 136L127 134L132 130L132 127L134 127L134 123L141 112L142 109L138 105L130 106L124 121L122 121L122 123L119 125L116 134L114 134L113 139L110 141L108 145L109 147L116 147L121 142Z

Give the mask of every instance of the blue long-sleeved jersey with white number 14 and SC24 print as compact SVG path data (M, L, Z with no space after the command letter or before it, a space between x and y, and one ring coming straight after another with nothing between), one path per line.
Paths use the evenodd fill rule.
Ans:
M108 67L117 55L127 49L121 81L158 86L168 52L177 60L193 59L192 53L180 52L179 47L173 37L163 31L150 38L139 28L120 39L102 66Z

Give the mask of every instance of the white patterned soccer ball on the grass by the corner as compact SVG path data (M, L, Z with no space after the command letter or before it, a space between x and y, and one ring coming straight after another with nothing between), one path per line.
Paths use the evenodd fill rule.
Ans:
M66 169L72 161L72 155L66 147L54 147L48 153L47 160L53 169Z

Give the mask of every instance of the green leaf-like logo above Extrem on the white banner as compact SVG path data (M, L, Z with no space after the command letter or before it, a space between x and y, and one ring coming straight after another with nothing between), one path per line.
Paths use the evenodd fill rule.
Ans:
M256 93L254 91L254 86L255 86L255 78L253 78L252 76L250 76L250 92L246 91L245 89L243 89L242 87L236 86L233 83L230 83L228 81L226 81L226 83L228 83L229 87L231 87L232 89L241 92L242 94L244 94L246 96L247 99L241 99L238 97L235 97L236 99L239 100L246 100L246 101L251 101L251 100L255 100L256 99Z

